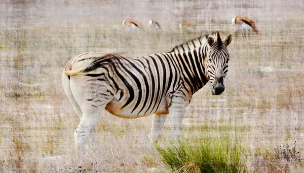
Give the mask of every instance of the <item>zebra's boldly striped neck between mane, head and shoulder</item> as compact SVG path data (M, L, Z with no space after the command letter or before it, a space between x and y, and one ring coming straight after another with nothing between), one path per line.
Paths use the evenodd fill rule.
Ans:
M174 56L177 57L180 64L183 78L186 82L188 81L192 93L197 92L209 81L205 74L207 48L207 44L204 44L193 49L174 52Z

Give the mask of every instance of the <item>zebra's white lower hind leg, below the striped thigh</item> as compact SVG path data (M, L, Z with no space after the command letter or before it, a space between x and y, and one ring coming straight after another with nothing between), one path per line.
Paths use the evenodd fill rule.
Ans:
M90 149L95 142L94 127L106 105L83 110L81 121L74 131L75 147L78 155L83 158L86 150Z

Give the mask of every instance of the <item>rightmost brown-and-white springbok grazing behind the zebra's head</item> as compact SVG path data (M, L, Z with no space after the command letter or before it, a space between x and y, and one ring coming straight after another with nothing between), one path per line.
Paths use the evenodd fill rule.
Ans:
M237 16L232 19L232 25L235 28L235 35L238 36L241 33L243 36L256 35L259 34L258 30L255 27L255 23L247 18L242 16Z

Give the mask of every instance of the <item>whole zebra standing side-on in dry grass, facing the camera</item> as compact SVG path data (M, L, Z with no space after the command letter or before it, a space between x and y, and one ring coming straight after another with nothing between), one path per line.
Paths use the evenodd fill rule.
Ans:
M219 32L175 46L167 53L125 57L106 52L86 52L73 57L62 73L62 86L80 123L74 131L75 146L84 157L95 141L94 127L101 112L126 119L154 114L151 142L170 117L173 136L181 134L185 107L208 81L211 94L224 91L230 54L229 34Z

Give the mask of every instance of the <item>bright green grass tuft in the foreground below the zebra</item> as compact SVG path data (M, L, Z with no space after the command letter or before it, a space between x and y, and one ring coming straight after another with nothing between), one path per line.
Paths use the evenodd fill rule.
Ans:
M246 172L247 148L226 129L202 132L176 144L156 144L162 162L175 172Z

